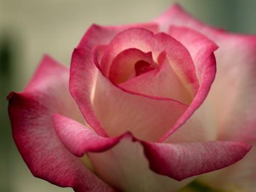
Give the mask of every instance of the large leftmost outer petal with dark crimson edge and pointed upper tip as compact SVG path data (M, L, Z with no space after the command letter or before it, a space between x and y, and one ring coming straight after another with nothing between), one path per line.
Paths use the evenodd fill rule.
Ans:
M79 110L68 91L69 70L46 56L22 93L9 95L14 141L35 177L75 191L114 191L59 141L53 113L69 117ZM60 94L61 93L61 94Z

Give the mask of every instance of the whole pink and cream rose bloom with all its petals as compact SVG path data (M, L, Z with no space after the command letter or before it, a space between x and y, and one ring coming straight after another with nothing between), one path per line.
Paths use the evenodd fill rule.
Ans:
M70 70L45 56L8 96L13 138L35 177L75 191L255 191L255 78L256 36L178 5L92 25Z

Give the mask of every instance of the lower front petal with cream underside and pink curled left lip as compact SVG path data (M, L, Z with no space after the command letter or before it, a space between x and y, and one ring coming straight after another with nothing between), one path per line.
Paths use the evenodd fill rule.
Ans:
M75 156L96 152L89 154L97 174L119 190L170 192L193 179L178 182L152 172L141 143L136 142L129 133L116 138L104 138L61 115L56 114L54 122L60 140Z

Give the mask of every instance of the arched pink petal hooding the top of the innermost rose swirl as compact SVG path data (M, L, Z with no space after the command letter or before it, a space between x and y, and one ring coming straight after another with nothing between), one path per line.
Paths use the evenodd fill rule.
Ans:
M109 77L111 64L114 58L123 50L136 48L144 53L152 52L156 61L159 54L166 51L170 65L179 77L191 97L198 90L198 80L195 67L185 47L165 33L153 34L142 28L132 28L117 34L106 48L101 60L102 73ZM187 94L187 93L185 93Z

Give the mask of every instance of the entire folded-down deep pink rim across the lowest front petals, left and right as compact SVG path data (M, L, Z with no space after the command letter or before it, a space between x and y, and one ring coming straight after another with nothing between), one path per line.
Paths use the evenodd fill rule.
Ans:
M54 115L54 125L61 142L79 157L86 152L110 150L127 137L139 141L150 168L178 181L229 166L242 159L251 148L250 144L224 141L154 143L138 140L131 133L102 138L90 133L84 125L61 115Z

